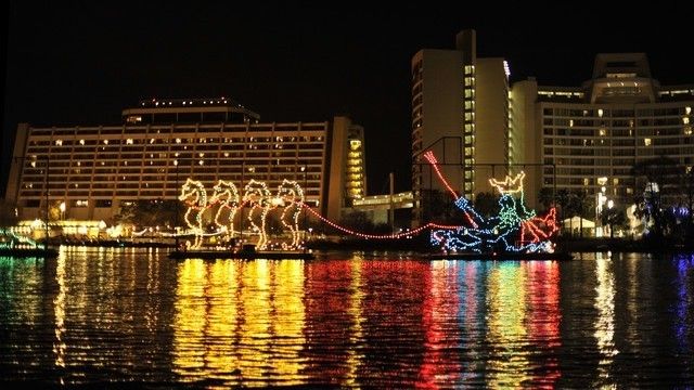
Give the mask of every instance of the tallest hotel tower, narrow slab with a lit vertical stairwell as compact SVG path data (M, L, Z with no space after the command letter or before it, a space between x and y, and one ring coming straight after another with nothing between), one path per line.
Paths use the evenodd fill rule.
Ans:
M433 151L461 195L489 192L490 177L507 172L509 65L478 58L475 30L455 37L455 50L423 49L412 57L412 192L415 224L423 202L445 191L424 159Z

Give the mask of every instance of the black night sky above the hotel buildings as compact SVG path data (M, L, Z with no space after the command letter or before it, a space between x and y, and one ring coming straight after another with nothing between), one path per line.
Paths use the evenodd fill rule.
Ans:
M261 121L348 115L365 130L369 193L387 193L391 171L407 191L410 60L453 49L465 28L477 30L478 56L510 62L512 81L579 86L595 53L645 52L661 83L694 83L692 3L5 3L1 194L17 122L117 125L141 99L208 96L236 100Z

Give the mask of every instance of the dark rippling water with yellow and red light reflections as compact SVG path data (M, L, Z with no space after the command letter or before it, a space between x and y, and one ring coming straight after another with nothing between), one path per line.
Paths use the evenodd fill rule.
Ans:
M111 387L692 387L694 257L0 258L0 374Z

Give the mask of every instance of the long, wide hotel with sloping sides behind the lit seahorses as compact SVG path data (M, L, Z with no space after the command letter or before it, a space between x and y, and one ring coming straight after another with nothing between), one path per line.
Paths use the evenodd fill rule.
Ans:
M220 179L271 193L283 180L331 220L367 195L363 128L347 117L261 122L224 99L152 99L123 110L118 126L20 123L5 198L21 220L60 205L64 219L113 221L123 205L177 199L188 178L208 196ZM48 171L47 171L48 169ZM48 185L48 192L47 192Z

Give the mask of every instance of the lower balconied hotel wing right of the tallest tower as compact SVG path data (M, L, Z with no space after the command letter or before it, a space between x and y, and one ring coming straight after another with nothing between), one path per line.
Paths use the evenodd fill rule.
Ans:
M635 164L667 156L682 174L694 166L694 84L660 86L644 53L597 54L581 87L514 82L511 100L515 158L544 164L527 172L531 205L542 186L591 198L605 187L607 198L629 205L645 190Z

